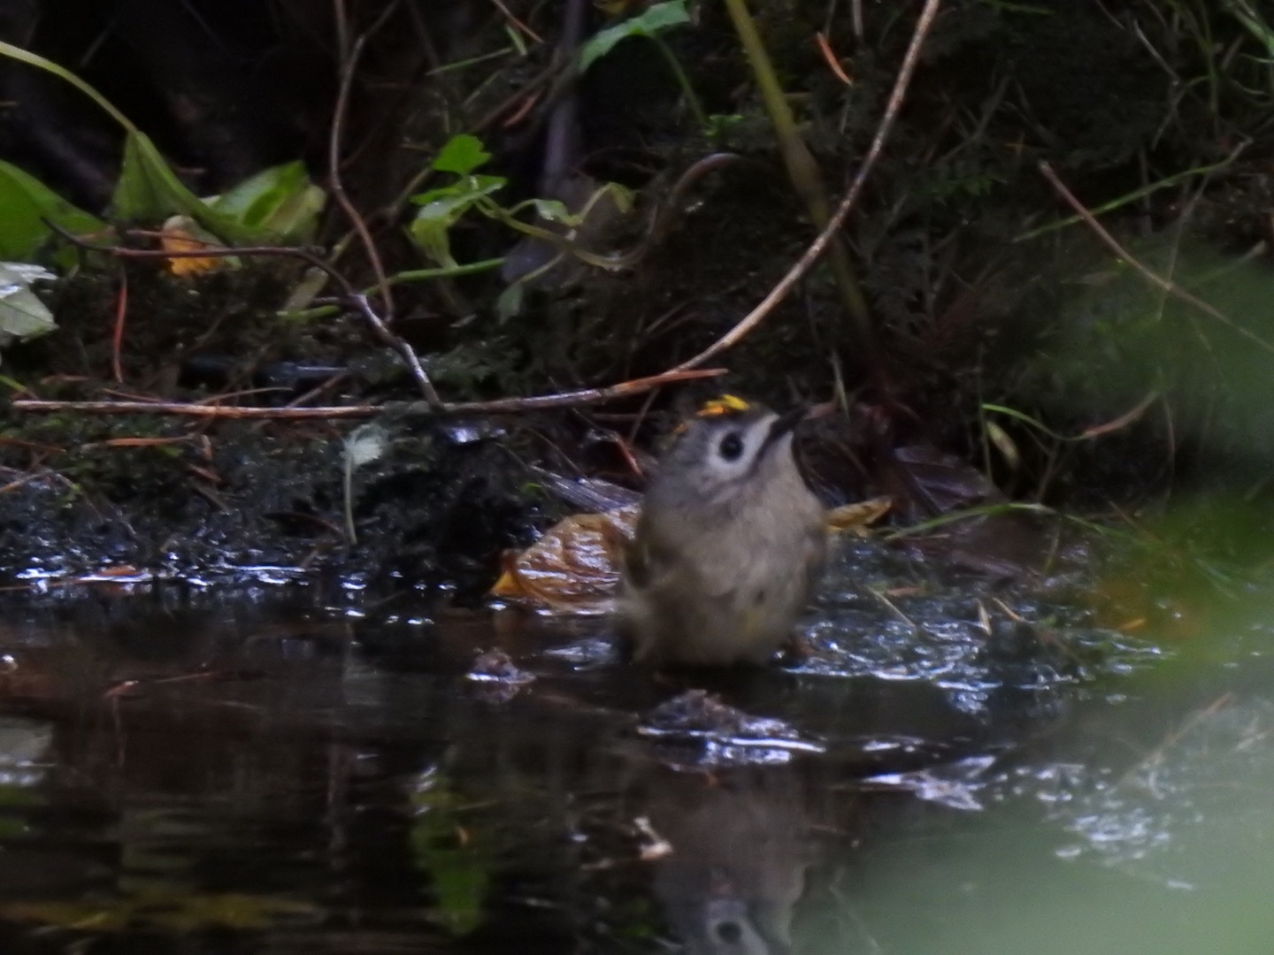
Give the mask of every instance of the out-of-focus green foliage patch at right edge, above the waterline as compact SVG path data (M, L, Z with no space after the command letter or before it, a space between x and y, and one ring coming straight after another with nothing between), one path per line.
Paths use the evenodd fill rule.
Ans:
M1215 313L1150 285L1124 262L1107 261L1073 286L1051 346L1032 367L1033 397L1093 424L1158 392L1162 407L1147 420L1166 427L1173 443L1189 439L1214 460L1266 467L1261 462L1274 461L1266 397L1274 274L1192 239L1156 237L1130 251Z

